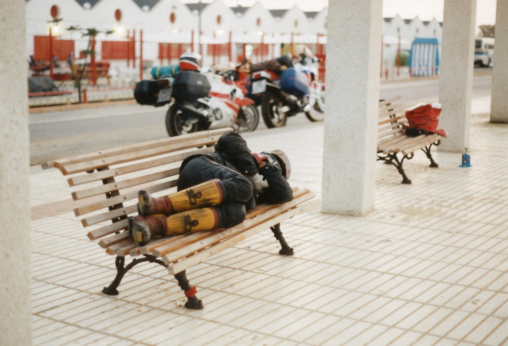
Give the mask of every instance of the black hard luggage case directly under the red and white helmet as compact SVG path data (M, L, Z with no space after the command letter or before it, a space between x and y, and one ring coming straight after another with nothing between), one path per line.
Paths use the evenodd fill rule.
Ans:
M172 98L195 101L208 96L211 86L208 78L197 71L180 71L173 81Z

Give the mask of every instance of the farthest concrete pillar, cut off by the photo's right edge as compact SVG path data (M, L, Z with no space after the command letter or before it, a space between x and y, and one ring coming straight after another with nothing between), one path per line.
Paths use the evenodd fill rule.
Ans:
M508 122L508 0L497 0L491 122Z

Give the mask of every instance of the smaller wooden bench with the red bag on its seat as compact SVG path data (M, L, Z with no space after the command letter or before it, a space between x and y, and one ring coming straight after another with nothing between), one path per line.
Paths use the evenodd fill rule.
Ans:
M414 152L421 149L430 160L429 167L437 168L438 165L432 159L430 149L432 145L439 145L443 136L439 134L407 136L402 126L407 125L405 111L400 106L393 104L398 99L400 97L379 101L377 160L394 165L402 175L402 183L410 184L411 180L407 178L402 168L404 160L412 159ZM400 159L397 155L400 156Z

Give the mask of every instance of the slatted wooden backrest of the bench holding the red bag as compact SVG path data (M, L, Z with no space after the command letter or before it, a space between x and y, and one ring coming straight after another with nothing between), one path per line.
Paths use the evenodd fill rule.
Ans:
M378 142L390 136L404 134L402 124L407 125L407 119L405 111L394 104L398 99L400 97L379 101Z

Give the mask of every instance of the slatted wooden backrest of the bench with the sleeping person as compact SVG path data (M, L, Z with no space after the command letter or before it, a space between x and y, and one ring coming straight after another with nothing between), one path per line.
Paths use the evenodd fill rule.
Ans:
M94 240L128 228L128 215L137 214L139 190L154 196L176 191L182 160L213 152L219 137L232 130L210 130L100 151L56 160L46 168L56 167L70 176L67 181L72 198L79 203L74 213L85 216L81 223L93 229L88 238Z

